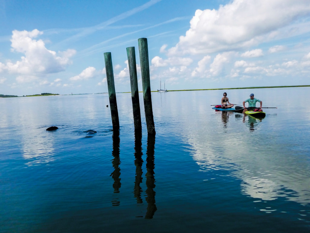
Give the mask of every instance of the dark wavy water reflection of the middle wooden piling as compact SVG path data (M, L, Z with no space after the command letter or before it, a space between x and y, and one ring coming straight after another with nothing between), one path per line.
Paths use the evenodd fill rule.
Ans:
M135 130L135 188L134 196L137 200L137 203L143 203L141 198L142 189L140 184L142 183L142 132L141 130Z

